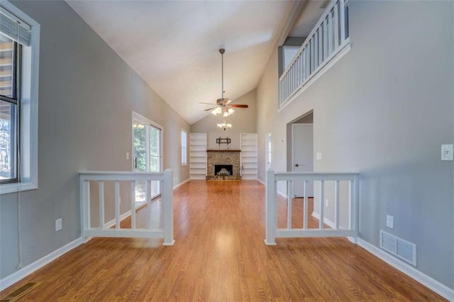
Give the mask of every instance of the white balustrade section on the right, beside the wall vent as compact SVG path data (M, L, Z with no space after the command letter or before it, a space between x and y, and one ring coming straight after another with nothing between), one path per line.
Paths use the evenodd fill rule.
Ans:
M277 228L278 225L278 197L277 197L277 182L287 181L287 228ZM326 182L333 182L333 192L331 196L333 202L333 219L330 223L331 227L326 228L326 206L325 197L328 193L326 190ZM341 226L341 181L348 182L348 205L347 211L343 213L348 215L344 220L348 221L348 225ZM301 228L292 228L292 216L294 209L294 184L301 184L302 196L302 223ZM314 203L318 201L318 211L316 218L319 219L318 228L309 228L309 185L317 186L317 196L313 199ZM314 191L316 191L314 190ZM279 237L353 237L356 242L358 237L358 192L359 182L358 174L355 173L318 173L318 172L282 172L275 173L272 170L267 171L266 179L266 238L267 245L275 245L275 238ZM345 191L343 191L345 193ZM314 194L315 195L315 194ZM282 200L282 198L281 198ZM282 203L282 201L281 201ZM315 204L314 204L315 206ZM314 216L314 213L311 213ZM315 216L314 216L315 217Z

